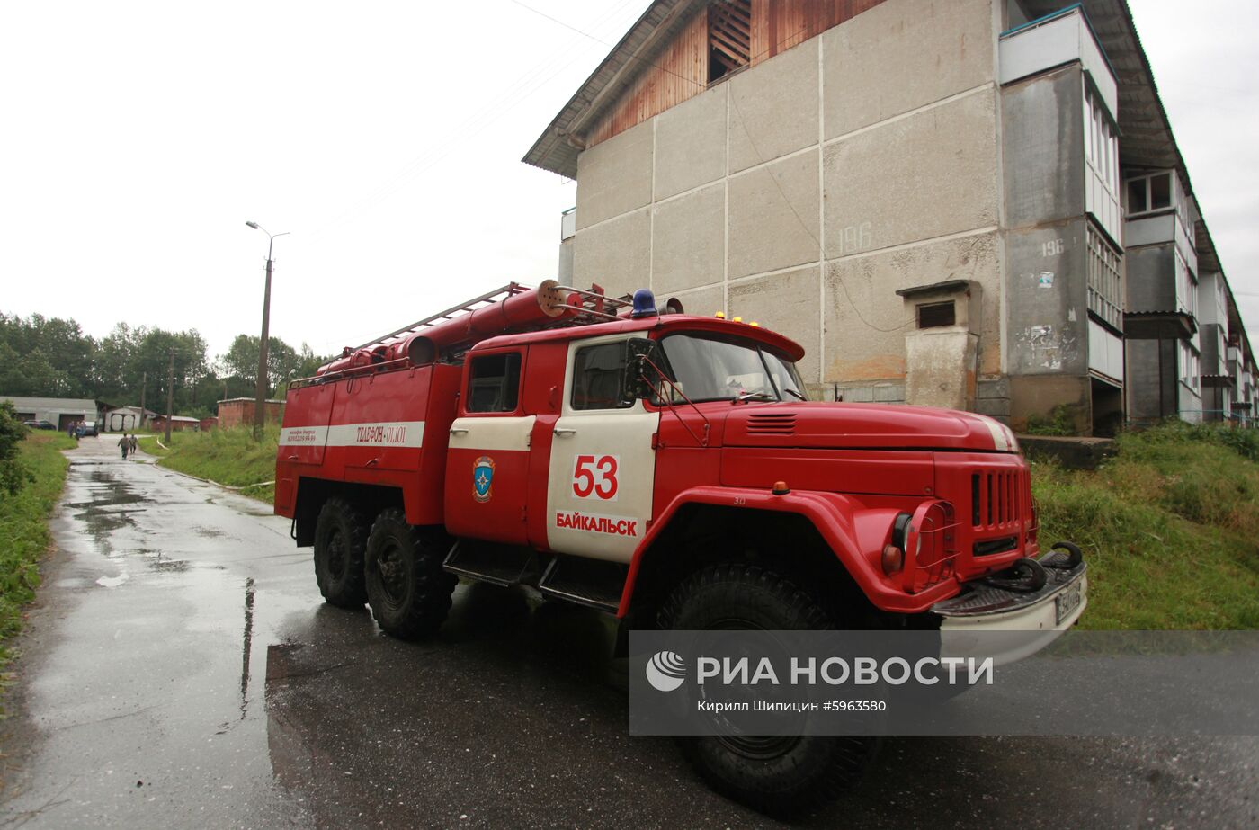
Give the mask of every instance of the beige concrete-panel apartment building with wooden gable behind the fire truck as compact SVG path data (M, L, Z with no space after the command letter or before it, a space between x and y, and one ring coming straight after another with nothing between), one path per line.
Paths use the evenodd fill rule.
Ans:
M1181 261L1224 286L1211 394L1253 356L1124 0L657 0L525 161L577 179L562 281L783 331L816 398L1244 406L1194 374Z

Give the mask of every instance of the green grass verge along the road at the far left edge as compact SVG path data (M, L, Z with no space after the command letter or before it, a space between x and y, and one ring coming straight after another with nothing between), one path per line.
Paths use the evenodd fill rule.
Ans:
M69 466L60 450L73 446L60 432L29 432L19 458L35 480L16 495L0 492L0 665L9 661L9 639L21 630L23 606L35 598L39 559L49 543L48 516Z

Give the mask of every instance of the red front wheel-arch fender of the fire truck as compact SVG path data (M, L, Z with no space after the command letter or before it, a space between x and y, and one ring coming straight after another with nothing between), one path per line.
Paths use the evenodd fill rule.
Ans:
M844 495L808 491L773 495L767 490L740 487L692 487L677 494L669 503L669 506L652 523L647 535L643 537L642 542L635 549L633 558L630 560L630 573L626 577L624 589L621 593L621 605L617 608L618 617L624 617L630 612L635 584L637 583L638 572L647 552L663 529L669 526L677 511L690 504L799 514L813 524L831 550L835 552L844 567L847 568L852 578L875 605L879 605L876 594L895 593L901 598L905 596L885 584L883 574L875 573L871 563L860 554L850 518L854 506Z

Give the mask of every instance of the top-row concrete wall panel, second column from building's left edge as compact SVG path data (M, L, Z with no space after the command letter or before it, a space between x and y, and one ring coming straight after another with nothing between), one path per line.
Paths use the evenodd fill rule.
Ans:
M715 87L656 118L656 199L725 175L725 96Z

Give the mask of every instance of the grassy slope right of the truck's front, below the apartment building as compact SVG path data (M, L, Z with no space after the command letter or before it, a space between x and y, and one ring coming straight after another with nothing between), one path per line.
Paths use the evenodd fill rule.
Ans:
M1089 563L1084 628L1259 628L1259 435L1123 433L1095 472L1032 462L1041 544Z

